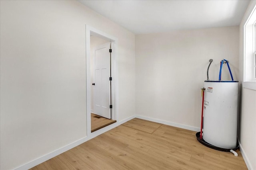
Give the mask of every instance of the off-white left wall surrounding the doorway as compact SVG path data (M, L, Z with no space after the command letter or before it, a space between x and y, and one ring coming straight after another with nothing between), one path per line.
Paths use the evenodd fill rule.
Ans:
M135 113L135 35L77 1L0 1L0 169L86 137L85 25L118 38L119 120Z

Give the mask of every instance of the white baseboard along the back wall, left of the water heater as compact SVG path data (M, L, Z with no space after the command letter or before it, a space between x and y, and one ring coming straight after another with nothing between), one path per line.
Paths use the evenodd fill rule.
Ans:
M196 131L199 132L200 128L199 127L193 127L193 126L188 126L188 125L182 125L182 124L178 124L178 123L174 123L174 122L170 122L170 121L163 121L160 119L154 119L154 118L150 118L150 117L146 117L146 116L140 116L140 115L135 115L136 118L139 119L144 119L144 120L148 120L148 121L153 121L156 123L162 123L164 125L169 125L169 126L174 126L174 127L180 127L182 129L188 129L191 131Z

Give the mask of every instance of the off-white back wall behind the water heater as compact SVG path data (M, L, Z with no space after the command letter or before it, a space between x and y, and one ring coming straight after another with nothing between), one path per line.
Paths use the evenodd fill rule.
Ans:
M198 129L209 59L211 80L223 58L238 80L238 49L238 26L136 35L136 113ZM231 80L226 64L222 72Z

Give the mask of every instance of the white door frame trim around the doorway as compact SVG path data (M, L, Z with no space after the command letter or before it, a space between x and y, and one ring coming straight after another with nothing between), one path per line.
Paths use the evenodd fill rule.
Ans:
M90 35L99 35L100 37L111 41L111 100L112 100L112 119L118 122L118 65L117 65L117 45L118 39L104 33L90 25L86 25L86 118L87 118L87 136L91 134L91 64L90 64ZM99 131L99 130L98 130ZM96 132L96 131L95 131ZM94 132L92 132L94 133Z

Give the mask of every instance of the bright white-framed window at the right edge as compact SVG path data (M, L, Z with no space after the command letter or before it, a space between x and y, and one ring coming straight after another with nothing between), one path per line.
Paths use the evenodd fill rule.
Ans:
M256 90L256 6L244 24L244 81L243 87Z

